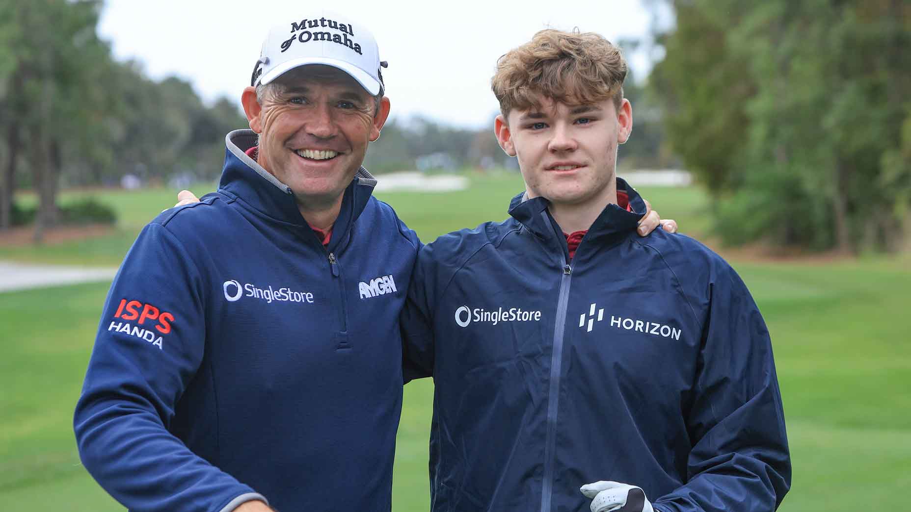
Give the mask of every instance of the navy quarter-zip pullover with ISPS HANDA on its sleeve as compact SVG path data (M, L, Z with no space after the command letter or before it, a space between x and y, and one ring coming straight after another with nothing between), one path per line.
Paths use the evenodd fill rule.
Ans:
M389 510L398 313L414 231L363 169L332 241L228 135L217 192L167 210L118 271L79 398L79 455L131 510Z

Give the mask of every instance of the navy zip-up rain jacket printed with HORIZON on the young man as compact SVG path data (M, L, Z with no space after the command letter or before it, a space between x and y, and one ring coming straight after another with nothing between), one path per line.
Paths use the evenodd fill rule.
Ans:
M618 189L628 189L618 179ZM542 198L418 254L407 378L433 375L432 509L589 510L641 486L660 512L768 512L791 481L763 318L718 255L636 234L609 205L572 261Z

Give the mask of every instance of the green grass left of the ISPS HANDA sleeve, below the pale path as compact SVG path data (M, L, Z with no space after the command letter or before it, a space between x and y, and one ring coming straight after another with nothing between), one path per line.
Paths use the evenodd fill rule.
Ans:
M112 509L86 481L71 427L106 293L101 283L0 294L0 497L13 508L60 500L46 491L77 478L69 503L95 497Z

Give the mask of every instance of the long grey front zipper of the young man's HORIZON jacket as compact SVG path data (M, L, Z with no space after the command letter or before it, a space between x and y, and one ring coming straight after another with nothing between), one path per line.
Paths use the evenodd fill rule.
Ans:
M553 352L550 357L548 435L544 445L544 482L541 487L541 512L550 511L550 497L554 487L554 450L557 445L557 412L560 396L560 366L563 362L563 331L566 327L569 285L572 279L572 267L569 266L568 260L569 255L566 254L562 274L560 275L557 319L554 323Z

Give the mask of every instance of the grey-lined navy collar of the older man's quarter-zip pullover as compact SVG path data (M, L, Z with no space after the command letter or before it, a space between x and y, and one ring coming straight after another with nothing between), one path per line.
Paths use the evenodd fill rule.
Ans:
M273 220L294 226L307 226L301 210L297 208L292 189L244 153L255 146L256 142L256 132L251 129L234 130L225 137L225 164L221 171L220 191L240 198ZM344 191L342 210L333 225L330 250L351 230L354 220L357 220L370 200L375 186L376 179L367 169L358 169Z

